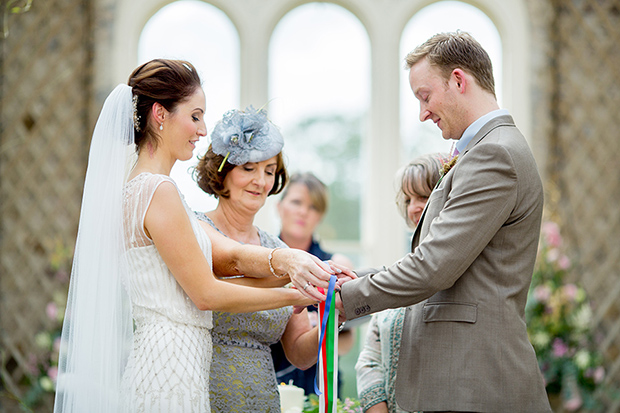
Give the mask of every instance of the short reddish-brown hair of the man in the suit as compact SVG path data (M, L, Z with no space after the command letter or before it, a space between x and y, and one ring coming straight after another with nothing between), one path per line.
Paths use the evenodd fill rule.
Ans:
M495 96L495 80L491 58L469 33L456 31L438 33L416 47L405 57L406 68L422 59L437 67L446 81L456 68L471 74L476 82L487 92Z

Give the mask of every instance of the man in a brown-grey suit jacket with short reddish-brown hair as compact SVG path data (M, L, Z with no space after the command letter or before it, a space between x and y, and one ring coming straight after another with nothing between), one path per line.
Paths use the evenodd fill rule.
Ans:
M550 412L524 320L543 209L532 153L469 34L437 34L406 62L420 120L455 140L458 158L411 253L345 283L336 306L347 319L410 306L396 379L406 411Z

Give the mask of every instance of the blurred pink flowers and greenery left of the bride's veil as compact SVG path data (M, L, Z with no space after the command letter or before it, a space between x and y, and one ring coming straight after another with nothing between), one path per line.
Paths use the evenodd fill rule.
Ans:
M65 317L72 256L70 249L57 243L50 260L47 276L58 285L58 289L52 294L52 301L45 306L50 327L39 331L34 336L38 351L31 353L28 359L29 377L27 380L30 387L22 400L28 408L37 406L46 394L56 391L60 334Z

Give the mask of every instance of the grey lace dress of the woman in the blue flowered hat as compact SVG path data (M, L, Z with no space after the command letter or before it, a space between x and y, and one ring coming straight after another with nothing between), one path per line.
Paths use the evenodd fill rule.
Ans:
M196 215L221 233L206 215ZM273 235L260 229L258 234L263 247L288 248ZM269 346L280 341L292 314L292 307L247 314L213 312L210 398L214 413L281 411Z

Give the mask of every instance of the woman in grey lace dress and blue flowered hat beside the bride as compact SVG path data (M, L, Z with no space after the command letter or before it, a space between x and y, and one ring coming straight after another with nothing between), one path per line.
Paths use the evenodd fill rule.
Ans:
M287 181L280 132L264 113L249 107L226 113L211 140L195 176L218 205L197 214L202 225L243 244L273 248L277 255L286 244L254 226L254 217L267 196L279 193ZM271 280L278 285L284 274L274 276ZM303 289L317 293L309 283ZM298 368L307 369L316 362L318 332L310 326L306 310L299 314L293 314L292 307L247 314L214 312L212 336L213 412L280 412L270 344L280 341Z

